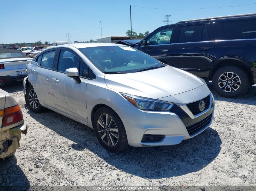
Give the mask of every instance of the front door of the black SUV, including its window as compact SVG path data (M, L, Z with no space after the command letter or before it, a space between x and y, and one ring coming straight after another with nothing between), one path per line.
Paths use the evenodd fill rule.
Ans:
M139 50L153 56L160 62L171 64L171 40L174 31L173 26L163 27L148 35L145 39L145 46L140 46Z

